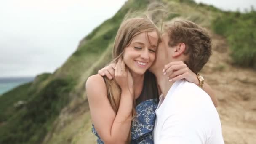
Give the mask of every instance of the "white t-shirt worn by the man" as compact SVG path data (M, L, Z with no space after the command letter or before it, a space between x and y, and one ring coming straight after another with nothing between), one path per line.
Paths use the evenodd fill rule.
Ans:
M194 83L176 81L155 112L155 144L224 144L218 112Z

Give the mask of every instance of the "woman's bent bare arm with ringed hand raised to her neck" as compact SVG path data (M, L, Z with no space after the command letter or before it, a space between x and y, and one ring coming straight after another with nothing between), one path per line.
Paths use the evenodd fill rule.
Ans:
M122 60L117 62L115 80L121 88L120 105L115 114L107 98L107 88L100 75L93 75L86 82L91 119L105 144L125 144L131 128L133 109L133 81Z

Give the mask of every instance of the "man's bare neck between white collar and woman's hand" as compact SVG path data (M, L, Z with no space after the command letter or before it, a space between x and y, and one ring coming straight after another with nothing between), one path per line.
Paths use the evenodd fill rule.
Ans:
M158 68L157 71L154 72L154 74L157 78L157 85L160 88L163 97L165 98L171 86L173 85L173 82L169 81L168 76L163 75L163 69Z

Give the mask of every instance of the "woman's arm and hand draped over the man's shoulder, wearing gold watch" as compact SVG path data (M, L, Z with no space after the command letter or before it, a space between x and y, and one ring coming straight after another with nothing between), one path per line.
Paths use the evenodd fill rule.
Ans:
M199 85L197 75L192 72L183 61L174 61L166 64L163 69L163 74L167 75L170 81L186 79L191 83ZM218 106L218 99L215 96L213 89L204 82L202 89L211 97L215 107Z

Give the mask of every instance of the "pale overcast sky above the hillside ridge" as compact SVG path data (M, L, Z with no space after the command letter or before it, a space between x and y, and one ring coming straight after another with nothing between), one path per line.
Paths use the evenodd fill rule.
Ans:
M0 77L54 72L126 0L0 0ZM224 10L256 0L195 0Z

